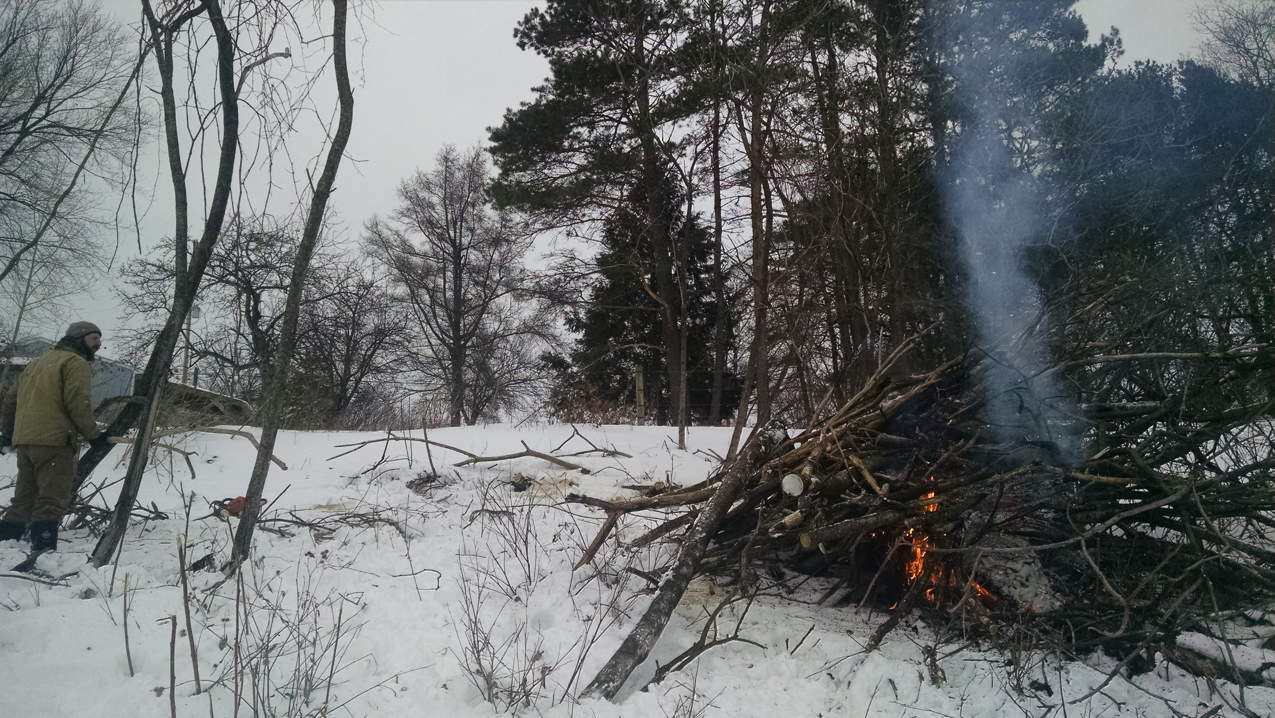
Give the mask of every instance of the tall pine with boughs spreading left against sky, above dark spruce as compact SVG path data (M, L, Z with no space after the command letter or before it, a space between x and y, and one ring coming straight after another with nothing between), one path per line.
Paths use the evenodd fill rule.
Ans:
M664 130L686 116L676 51L685 23L672 0L552 0L532 10L514 34L553 75L491 130L497 203L558 226L630 214L658 305L646 319L658 328L650 344L663 353L674 416L685 408L692 318L683 297L694 279L664 181L676 150Z

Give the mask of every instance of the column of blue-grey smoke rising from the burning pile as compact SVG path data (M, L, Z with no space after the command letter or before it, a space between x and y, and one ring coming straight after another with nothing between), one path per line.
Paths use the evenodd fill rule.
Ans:
M980 20L977 13L954 15L956 33L961 23ZM975 351L987 358L978 376L987 399L983 418L1002 440L1039 443L1074 460L1074 411L1061 385L1040 375L1049 365L1039 341L1048 318L1037 283L1023 269L1024 247L1049 228L1047 199L1007 145L1007 133L1030 125L1021 97L1006 97L997 83L1021 77L1019 57L993 41L951 64L963 119L942 177L943 200L968 275Z

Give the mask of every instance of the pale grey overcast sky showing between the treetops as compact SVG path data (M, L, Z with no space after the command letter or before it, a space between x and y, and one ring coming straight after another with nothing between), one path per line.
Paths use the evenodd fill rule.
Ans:
M130 22L139 8L136 0L106 0L106 5ZM546 78L548 65L518 50L513 29L536 5L516 0L390 0L375 6L371 22L363 23L358 57L352 57L361 71L348 147L348 158L354 162L342 165L329 205L348 233L357 233L372 214L391 210L398 182L418 167L428 170L444 144L486 142L486 128L500 124L506 107L532 98L530 88ZM1121 64L1128 65L1192 55L1198 37L1191 10L1197 5L1197 0L1080 0L1076 10L1089 26L1090 42L1112 26L1119 28L1126 50ZM330 84L330 77L325 79ZM167 182L167 177L161 181ZM166 214L163 203L157 201L143 222L144 245L171 232L170 216L171 210ZM135 241L131 250L121 250L120 259L135 255ZM111 330L121 323L121 310L108 289L112 282L103 277L99 287L76 301L75 316L66 318L103 328L103 356L112 356ZM62 329L65 323L33 326L32 332L56 337Z

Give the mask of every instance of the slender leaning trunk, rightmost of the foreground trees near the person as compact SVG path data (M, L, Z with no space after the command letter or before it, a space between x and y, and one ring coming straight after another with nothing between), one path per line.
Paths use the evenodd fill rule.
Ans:
M292 278L288 283L288 300L283 310L279 348L275 352L275 383L270 388L270 393L261 408L261 439L258 446L256 463L252 465L252 477L249 480L247 492L245 494L244 515L240 519L238 531L235 533L235 547L227 573L237 570L252 547L252 529L256 527L256 519L261 511L261 491L265 488L265 480L270 472L270 457L274 451L274 440L278 436L279 420L283 413L283 386L287 384L292 355L297 346L297 319L301 315L301 293L305 289L306 273L310 270L310 259L314 256L315 245L319 240L319 230L323 226L323 216L328 208L328 198L332 195L332 185L337 179L337 168L340 166L346 144L349 142L349 128L354 119L354 96L349 88L349 70L346 66L346 10L347 0L333 0L333 65L337 74L340 119L337 124L337 134L328 148L328 159L324 163L323 173L319 176L314 196L310 200L310 214L306 217L301 242L297 245L297 255L292 265Z

